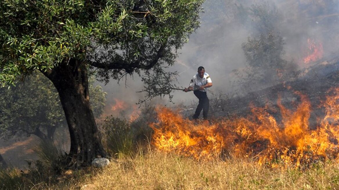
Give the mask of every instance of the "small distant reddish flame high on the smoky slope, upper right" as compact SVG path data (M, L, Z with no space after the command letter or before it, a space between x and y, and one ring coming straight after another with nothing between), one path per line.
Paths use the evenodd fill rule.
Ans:
M324 50L321 43L316 43L314 40L307 39L308 52L303 61L305 64L318 61L322 58Z

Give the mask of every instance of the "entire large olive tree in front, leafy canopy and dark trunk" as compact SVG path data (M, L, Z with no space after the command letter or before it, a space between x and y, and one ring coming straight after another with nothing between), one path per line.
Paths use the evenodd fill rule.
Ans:
M0 2L0 84L42 72L56 87L71 137L66 163L106 152L89 104L88 72L108 82L136 73L147 98L171 93L167 72L199 26L203 0ZM74 164L73 164L74 163Z

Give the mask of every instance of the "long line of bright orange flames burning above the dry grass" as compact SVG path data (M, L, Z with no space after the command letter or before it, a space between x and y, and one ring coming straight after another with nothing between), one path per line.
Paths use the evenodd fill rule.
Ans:
M338 157L339 88L332 89L323 102L324 118L309 126L311 103L296 92L301 102L289 110L278 100L280 119L270 109L252 108L247 117L220 119L215 124L183 119L168 108L157 108L158 123L152 144L159 150L175 152L197 160L211 160L222 155L253 158L260 165L308 165ZM313 130L311 128L314 128Z

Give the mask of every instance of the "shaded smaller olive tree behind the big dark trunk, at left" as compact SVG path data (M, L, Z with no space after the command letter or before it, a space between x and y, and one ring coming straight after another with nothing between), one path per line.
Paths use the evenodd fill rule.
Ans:
M106 93L94 78L89 80L89 94L94 116L103 112ZM53 140L57 127L65 126L65 116L52 82L35 72L23 82L9 89L0 89L0 136L36 135L42 140Z

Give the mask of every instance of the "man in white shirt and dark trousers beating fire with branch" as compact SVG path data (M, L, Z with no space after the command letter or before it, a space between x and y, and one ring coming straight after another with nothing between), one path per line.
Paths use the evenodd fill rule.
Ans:
M193 119L199 118L201 110L203 110L202 114L204 119L207 119L210 100L207 98L206 88L209 87L212 87L212 79L210 75L205 73L205 68L200 66L198 73L191 79L190 86L184 89L185 92L194 90L194 95L199 99L199 104L195 110Z

